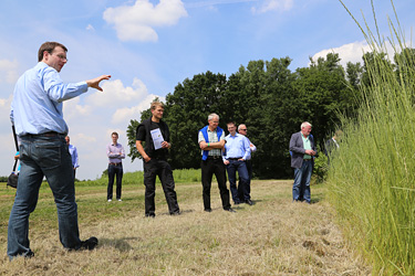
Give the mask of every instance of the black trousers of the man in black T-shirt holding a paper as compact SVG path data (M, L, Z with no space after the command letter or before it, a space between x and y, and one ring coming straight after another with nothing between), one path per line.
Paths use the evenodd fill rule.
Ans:
M168 211L170 214L179 212L177 203L177 194L175 192L175 180L170 164L166 160L152 158L148 162L144 162L144 185L145 190L145 214L154 214L156 205L154 198L156 195L156 177L162 182L164 195L166 197Z

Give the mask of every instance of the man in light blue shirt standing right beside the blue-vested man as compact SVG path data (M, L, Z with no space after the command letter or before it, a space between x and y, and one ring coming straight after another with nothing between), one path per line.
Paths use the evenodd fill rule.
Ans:
M249 176L247 170L246 160L251 156L251 149L247 137L237 132L237 127L234 121L227 124L229 135L225 137L225 156L224 163L228 171L228 179L230 184L230 193L235 204L242 202L252 205L249 193L247 192L247 185L249 182ZM236 173L238 170L239 185L237 188Z

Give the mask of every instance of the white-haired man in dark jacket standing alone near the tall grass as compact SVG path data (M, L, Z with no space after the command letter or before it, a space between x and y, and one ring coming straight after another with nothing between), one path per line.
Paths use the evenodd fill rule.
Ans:
M310 204L310 179L313 170L317 148L311 132L311 124L301 124L301 131L290 139L291 167L294 168L294 184L292 185L293 201L305 201Z

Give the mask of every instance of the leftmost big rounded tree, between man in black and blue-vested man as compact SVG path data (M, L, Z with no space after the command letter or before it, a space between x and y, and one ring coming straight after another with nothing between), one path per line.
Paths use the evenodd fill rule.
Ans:
M220 127L225 127L222 119L224 94L226 76L206 72L186 78L175 87L173 94L166 97L168 116L165 117L170 129L170 160L173 168L199 168L200 149L198 147L198 130L207 125L207 117L211 113L220 116Z

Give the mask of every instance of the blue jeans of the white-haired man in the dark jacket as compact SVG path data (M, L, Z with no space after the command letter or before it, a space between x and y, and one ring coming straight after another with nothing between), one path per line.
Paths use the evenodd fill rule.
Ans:
M307 201L310 203L310 179L313 166L312 161L302 161L300 169L294 169L294 184L292 185L293 201Z

